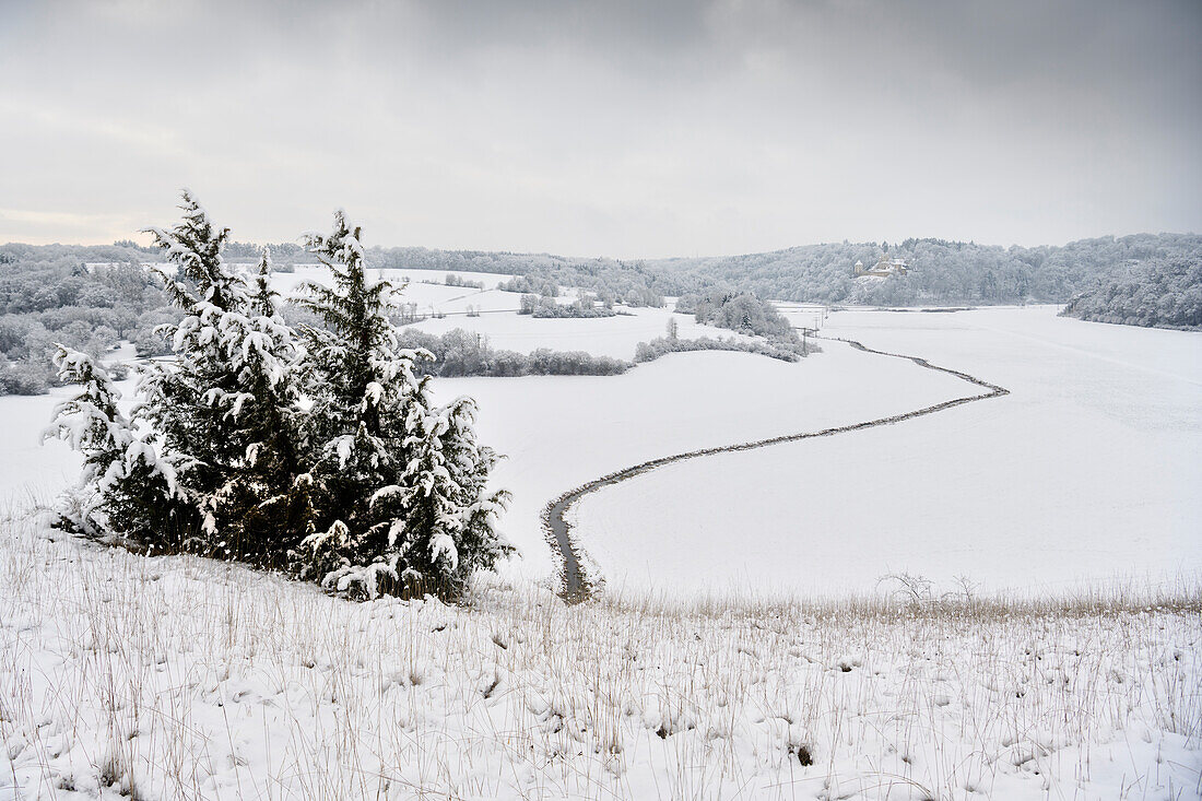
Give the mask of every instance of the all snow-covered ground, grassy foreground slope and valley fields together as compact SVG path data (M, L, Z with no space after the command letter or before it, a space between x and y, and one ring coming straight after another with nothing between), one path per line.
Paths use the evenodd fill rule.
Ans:
M446 291L474 290L410 287ZM421 325L629 358L668 316ZM575 535L608 593L589 604L546 589L548 499L983 390L838 342L796 364L439 380L507 455L524 552L465 609L0 521L0 800L1198 797L1202 337L1049 308L840 312L823 334L1011 393L589 496ZM55 400L0 398L12 508L75 475L36 444ZM935 600L885 592L888 572ZM939 600L956 576L976 593Z

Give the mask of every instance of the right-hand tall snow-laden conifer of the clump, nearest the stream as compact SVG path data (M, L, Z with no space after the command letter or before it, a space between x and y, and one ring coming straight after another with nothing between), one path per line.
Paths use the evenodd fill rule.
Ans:
M392 287L368 281L359 230L337 212L333 231L308 245L334 278L308 285L307 305L326 328L304 332L328 526L299 553L341 592L453 597L512 550L495 528L507 496L484 488L495 456L476 443L470 400L432 407L418 362L433 356L398 346Z

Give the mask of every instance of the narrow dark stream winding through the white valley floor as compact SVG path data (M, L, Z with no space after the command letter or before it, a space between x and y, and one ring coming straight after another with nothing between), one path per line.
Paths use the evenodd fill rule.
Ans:
M571 526L567 523L566 515L569 510L584 496L596 492L602 487L608 487L609 485L618 483L619 481L627 481L637 475L654 470L655 468L664 467L665 464L673 464L676 462L683 462L685 459L695 459L702 456L713 456L715 453L733 453L737 451L750 451L756 447L767 447L769 445L780 445L781 443L796 443L802 439L815 439L817 437L833 437L835 434L843 434L852 431L862 431L864 428L875 428L876 426L891 426L893 423L904 422L906 420L912 420L915 417L922 417L924 415L935 414L936 411L944 411L945 409L951 409L953 407L959 407L965 403L972 403L975 400L986 400L988 398L1000 398L1001 396L1010 394L1010 390L998 386L996 384L989 384L975 375L969 375L968 373L962 373L960 370L953 370L948 367L940 367L938 364L932 364L926 358L921 356L908 356L905 354L891 354L883 350L875 350L855 339L843 339L840 337L819 337L819 339L826 339L827 342L841 342L847 344L856 350L876 354L879 356L889 356L892 358L904 358L914 362L918 367L928 370L936 370L939 373L947 373L948 375L954 375L956 378L974 384L976 386L988 390L988 392L982 394L971 394L962 398L953 398L951 400L944 400L942 403L936 403L933 407L924 407L922 409L915 409L914 411L905 411L898 415L892 415L888 417L877 417L876 420L865 420L863 422L851 423L847 426L837 426L834 428L823 428L821 431L803 432L799 434L783 434L780 437L769 437L768 439L757 439L750 443L737 443L734 445L720 445L718 447L706 447L696 451L689 451L685 453L676 453L672 456L661 456L660 458L649 459L647 462L639 462L627 468L623 468L608 475L603 475L600 479L594 479L588 483L581 485L575 489L569 489L564 494L559 496L554 500L547 504L542 511L542 524L547 534L547 540L552 548L559 553L563 562L563 571L560 576L560 595L564 600L569 603L579 603L587 600L593 592L600 587L602 577L600 575L590 575L584 565L581 563L581 551L578 546L572 542ZM596 574L596 570L593 570Z

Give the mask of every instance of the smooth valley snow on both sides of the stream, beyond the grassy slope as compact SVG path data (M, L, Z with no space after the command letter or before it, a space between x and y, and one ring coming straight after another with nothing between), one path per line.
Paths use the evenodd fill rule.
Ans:
M446 289L446 287L433 287ZM670 313L466 325L493 344L629 357ZM813 325L813 309L790 312ZM718 333L676 315L682 336ZM929 357L1011 390L900 425L661 468L587 497L575 533L613 589L758 595L870 593L887 574L940 588L1067 592L1115 576L1202 572L1202 337L1103 326L1054 309L851 310L823 333ZM981 392L911 362L825 343L796 364L679 354L620 376L441 379L480 403L513 505L504 530L553 580L546 503L600 475L700 447L816 431ZM125 385L130 390L130 385ZM46 500L78 459L38 445L55 397L0 398L0 499Z

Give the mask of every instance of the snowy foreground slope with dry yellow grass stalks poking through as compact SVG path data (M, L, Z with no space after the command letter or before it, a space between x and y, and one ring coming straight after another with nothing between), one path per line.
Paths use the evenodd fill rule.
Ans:
M6 520L0 800L1197 797L1200 631L1196 598L351 604Z

